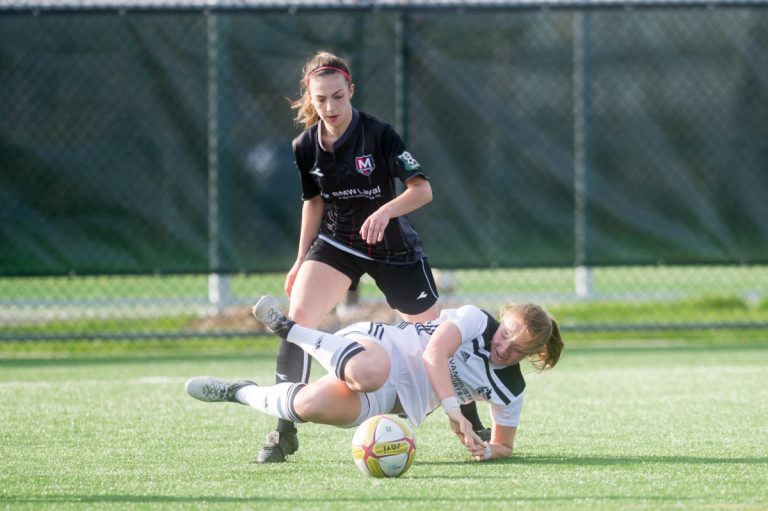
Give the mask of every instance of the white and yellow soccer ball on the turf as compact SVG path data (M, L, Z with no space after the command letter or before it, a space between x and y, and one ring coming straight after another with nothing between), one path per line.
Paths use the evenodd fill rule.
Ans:
M371 417L358 426L352 437L355 465L369 476L401 476L411 468L415 457L413 432L396 417Z

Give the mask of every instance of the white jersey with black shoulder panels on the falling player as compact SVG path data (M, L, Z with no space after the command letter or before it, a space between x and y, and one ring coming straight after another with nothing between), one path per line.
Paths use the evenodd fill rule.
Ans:
M360 334L387 350L392 369L387 385L382 387L386 390L382 392L397 392L405 414L418 426L427 414L440 406L440 400L427 377L422 355L432 334L443 321L451 321L461 332L461 345L448 361L456 396L462 403L489 402L493 422L516 427L523 406L525 380L519 364L498 366L491 363L489 349L499 322L478 307L465 305L458 309L445 309L440 317L427 323L355 323L339 330L336 335Z

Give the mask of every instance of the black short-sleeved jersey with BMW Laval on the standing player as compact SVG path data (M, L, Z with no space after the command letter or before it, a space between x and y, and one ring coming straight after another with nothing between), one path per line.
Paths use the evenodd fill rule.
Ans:
M405 183L427 176L388 124L352 111L352 121L331 150L320 144L315 123L293 141L304 200L320 195L325 204L319 237L357 256L390 264L410 264L425 256L421 238L407 216L389 221L380 243L360 236L363 222L397 195Z

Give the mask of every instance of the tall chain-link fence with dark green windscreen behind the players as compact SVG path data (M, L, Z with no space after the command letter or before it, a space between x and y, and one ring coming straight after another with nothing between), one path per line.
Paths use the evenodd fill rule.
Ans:
M444 304L768 324L766 5L297 5L0 3L3 339L253 328L295 257L285 98L318 49L431 178ZM395 319L360 300L330 321Z

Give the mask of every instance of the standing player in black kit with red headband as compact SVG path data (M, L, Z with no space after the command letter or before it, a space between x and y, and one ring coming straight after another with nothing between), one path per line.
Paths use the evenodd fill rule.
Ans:
M293 141L301 176L302 219L296 262L285 280L288 316L317 328L363 274L412 323L439 315L438 294L421 238L406 216L432 200L421 165L391 126L352 107L355 86L342 58L319 52L303 69L293 102L305 127ZM405 183L397 194L395 180ZM283 341L276 383L307 382L309 356ZM463 410L483 429L476 408ZM279 419L257 461L281 462L298 448L293 422Z

